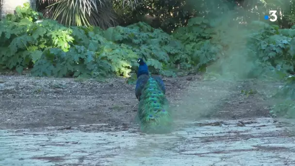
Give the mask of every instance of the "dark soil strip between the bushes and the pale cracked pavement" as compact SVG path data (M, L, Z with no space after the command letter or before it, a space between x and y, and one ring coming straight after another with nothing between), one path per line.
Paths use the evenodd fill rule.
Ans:
M126 84L125 79L109 79L105 83L99 83L76 82L74 79L0 76L0 80L1 129L95 123L130 126L137 110L134 85ZM202 105L200 100L194 99L198 93L197 88L204 92L203 96L199 96L204 100L206 88L213 88L214 93L222 96L219 91L231 84L204 82L197 75L164 78L164 83L171 107L180 119L197 116L193 114L194 111L186 109L196 109L196 104ZM195 88L196 92L190 93L190 88ZM227 93L229 95L218 102L211 97L202 101L212 100L214 106L201 116L219 119L268 116L266 102L258 99L257 95L245 97L236 85L227 88Z

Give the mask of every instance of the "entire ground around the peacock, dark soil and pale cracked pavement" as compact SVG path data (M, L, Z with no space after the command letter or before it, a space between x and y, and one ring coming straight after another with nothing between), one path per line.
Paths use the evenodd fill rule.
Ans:
M276 84L165 78L175 132L147 135L123 79L0 80L0 166L295 165L295 137L268 116Z

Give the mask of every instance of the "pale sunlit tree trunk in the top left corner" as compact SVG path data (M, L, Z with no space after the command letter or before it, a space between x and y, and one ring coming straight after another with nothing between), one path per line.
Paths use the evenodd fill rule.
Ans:
M31 3L31 6L35 5L34 0L0 0L0 18L7 14L14 14L16 6L23 5L26 2Z

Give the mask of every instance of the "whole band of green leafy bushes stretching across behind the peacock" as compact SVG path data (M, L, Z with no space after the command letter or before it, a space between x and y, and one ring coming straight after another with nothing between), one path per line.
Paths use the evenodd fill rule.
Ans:
M228 79L273 78L286 84L276 95L284 101L272 114L294 117L295 29L241 24L235 17L192 17L172 34L144 22L104 31L65 27L26 3L0 21L0 69L28 68L39 77L130 77L141 57L152 73L166 76L207 71Z

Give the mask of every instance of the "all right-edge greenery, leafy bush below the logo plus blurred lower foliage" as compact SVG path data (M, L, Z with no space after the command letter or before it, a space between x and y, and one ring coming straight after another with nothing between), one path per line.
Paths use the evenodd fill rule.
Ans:
M276 25L254 21L248 41L249 58L256 59L256 75L265 74L283 80L285 85L273 96L277 100L270 113L274 116L295 117L295 30L279 29Z

